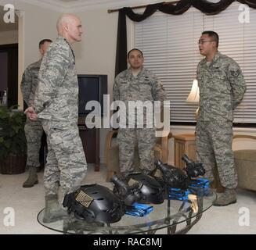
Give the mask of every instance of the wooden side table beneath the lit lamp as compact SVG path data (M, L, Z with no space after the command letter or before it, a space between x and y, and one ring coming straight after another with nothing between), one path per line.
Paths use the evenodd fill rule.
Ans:
M186 154L189 159L196 161L196 141L195 134L176 134L175 138L175 166L184 168L185 162L182 155Z

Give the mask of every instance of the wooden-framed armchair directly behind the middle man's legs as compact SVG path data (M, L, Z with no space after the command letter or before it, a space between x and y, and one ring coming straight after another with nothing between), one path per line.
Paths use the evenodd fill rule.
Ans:
M105 159L106 159L106 181L110 181L110 177L114 173L120 173L119 166L119 147L117 142L118 130L111 130L106 135L105 144ZM171 132L168 135L157 138L157 143L154 145L154 157L160 159L162 162L168 162L168 139L172 137ZM139 170L139 154L138 148L135 147L135 170Z

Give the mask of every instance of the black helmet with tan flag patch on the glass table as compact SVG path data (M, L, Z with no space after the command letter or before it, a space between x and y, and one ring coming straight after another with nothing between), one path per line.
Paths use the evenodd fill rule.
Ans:
M63 206L67 206L68 213L88 222L115 223L125 213L119 198L109 188L98 184L83 185L65 195Z

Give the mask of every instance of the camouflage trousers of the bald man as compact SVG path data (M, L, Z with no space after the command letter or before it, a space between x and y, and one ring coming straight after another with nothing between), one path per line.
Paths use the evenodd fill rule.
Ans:
M42 120L47 136L44 185L45 195L57 195L58 186L66 195L80 186L87 162L78 125L63 121Z

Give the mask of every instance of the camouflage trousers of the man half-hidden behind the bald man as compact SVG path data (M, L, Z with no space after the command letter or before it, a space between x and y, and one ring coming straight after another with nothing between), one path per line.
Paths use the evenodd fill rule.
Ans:
M39 152L43 129L40 121L32 122L27 119L24 127L27 139L27 167L39 167Z

